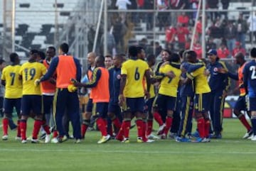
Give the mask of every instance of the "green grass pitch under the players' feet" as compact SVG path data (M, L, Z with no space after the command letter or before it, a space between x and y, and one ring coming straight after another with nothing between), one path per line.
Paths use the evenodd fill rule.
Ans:
M30 119L28 135L32 126ZM88 131L80 144L21 144L14 140L16 131L9 131L9 140L0 140L0 170L256 170L256 142L242 139L245 128L238 119L225 119L223 139L210 143L137 143L136 133L132 129L129 144L110 140L98 145L97 131Z

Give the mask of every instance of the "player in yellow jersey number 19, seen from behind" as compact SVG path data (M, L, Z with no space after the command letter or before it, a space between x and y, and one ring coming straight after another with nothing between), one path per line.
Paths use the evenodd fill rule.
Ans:
M25 62L18 72L23 83L20 121L21 143L27 143L26 121L31 111L36 114L31 143L38 143L38 132L43 124L41 87L36 86L34 82L46 74L46 67L40 62L36 62L37 57L38 50L31 50L28 62Z

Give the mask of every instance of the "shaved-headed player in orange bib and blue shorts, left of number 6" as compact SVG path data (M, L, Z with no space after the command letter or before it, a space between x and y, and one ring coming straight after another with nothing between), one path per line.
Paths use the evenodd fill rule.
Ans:
M92 82L82 84L75 82L77 87L92 88L92 103L93 111L92 115L96 118L96 123L102 138L97 143L106 143L110 140L110 135L107 134L106 122L104 119L107 117L107 106L110 102L110 90L109 90L109 72L104 67L104 56L97 56L95 59L95 70L92 73Z

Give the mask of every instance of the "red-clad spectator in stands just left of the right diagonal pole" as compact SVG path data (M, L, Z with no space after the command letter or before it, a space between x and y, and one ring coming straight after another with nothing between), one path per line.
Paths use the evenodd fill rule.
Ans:
M178 23L176 28L176 34L178 37L178 48L184 49L186 45L186 40L189 34L188 28L182 26L181 23Z

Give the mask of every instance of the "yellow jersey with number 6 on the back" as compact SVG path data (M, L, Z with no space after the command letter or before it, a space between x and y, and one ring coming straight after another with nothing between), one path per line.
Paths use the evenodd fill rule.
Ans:
M127 60L122 64L121 75L127 75L124 96L128 98L144 97L143 78L149 65L143 60Z

